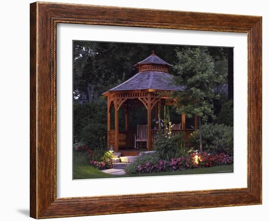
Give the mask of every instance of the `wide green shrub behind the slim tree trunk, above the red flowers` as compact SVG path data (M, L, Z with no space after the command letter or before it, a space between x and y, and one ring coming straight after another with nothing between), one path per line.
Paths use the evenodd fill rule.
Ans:
M193 146L199 147L199 130L190 136ZM202 125L202 148L209 153L225 152L233 156L233 127L224 124Z

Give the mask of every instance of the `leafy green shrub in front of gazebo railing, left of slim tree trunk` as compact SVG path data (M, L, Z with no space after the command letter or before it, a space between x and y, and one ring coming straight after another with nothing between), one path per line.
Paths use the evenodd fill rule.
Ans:
M159 134L155 142L155 150L160 159L169 161L174 157L185 156L189 153L186 143L183 132L171 138Z

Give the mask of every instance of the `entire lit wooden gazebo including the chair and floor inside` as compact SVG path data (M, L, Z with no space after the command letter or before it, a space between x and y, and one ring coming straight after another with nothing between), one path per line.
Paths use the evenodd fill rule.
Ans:
M153 119L157 119L157 113L165 105L175 104L175 100L171 98L173 91L183 90L183 87L173 84L173 76L168 73L172 66L159 58L154 51L134 67L138 69L137 74L103 94L107 98L108 148L112 147L116 152L132 152L132 155L142 150L141 144L144 144L145 150L154 149L157 125ZM139 124L137 119L136 128L129 128L130 114L135 108L141 108L141 105L147 113L146 124ZM124 115L121 119L125 121L121 128L120 113ZM186 136L192 133L197 129L197 116L187 125L189 126L186 128L186 116L182 114L172 128L172 136L180 132L184 132Z

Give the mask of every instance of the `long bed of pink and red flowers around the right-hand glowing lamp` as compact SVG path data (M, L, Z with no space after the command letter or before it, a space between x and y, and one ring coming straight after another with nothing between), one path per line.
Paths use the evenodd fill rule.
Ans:
M233 163L233 157L225 154L209 154L206 152L198 153L194 152L187 156L181 156L178 158L173 158L171 161L158 160L154 161L144 161L143 163L134 161L134 165L129 165L126 173L146 173L146 172L166 172L166 171L182 171L193 168L203 168L203 167L213 167L221 166ZM132 170L130 170L132 168Z

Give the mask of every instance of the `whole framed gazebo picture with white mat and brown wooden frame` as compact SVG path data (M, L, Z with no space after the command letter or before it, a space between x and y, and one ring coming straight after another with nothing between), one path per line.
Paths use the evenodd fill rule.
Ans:
M262 18L30 4L30 216L262 203Z

